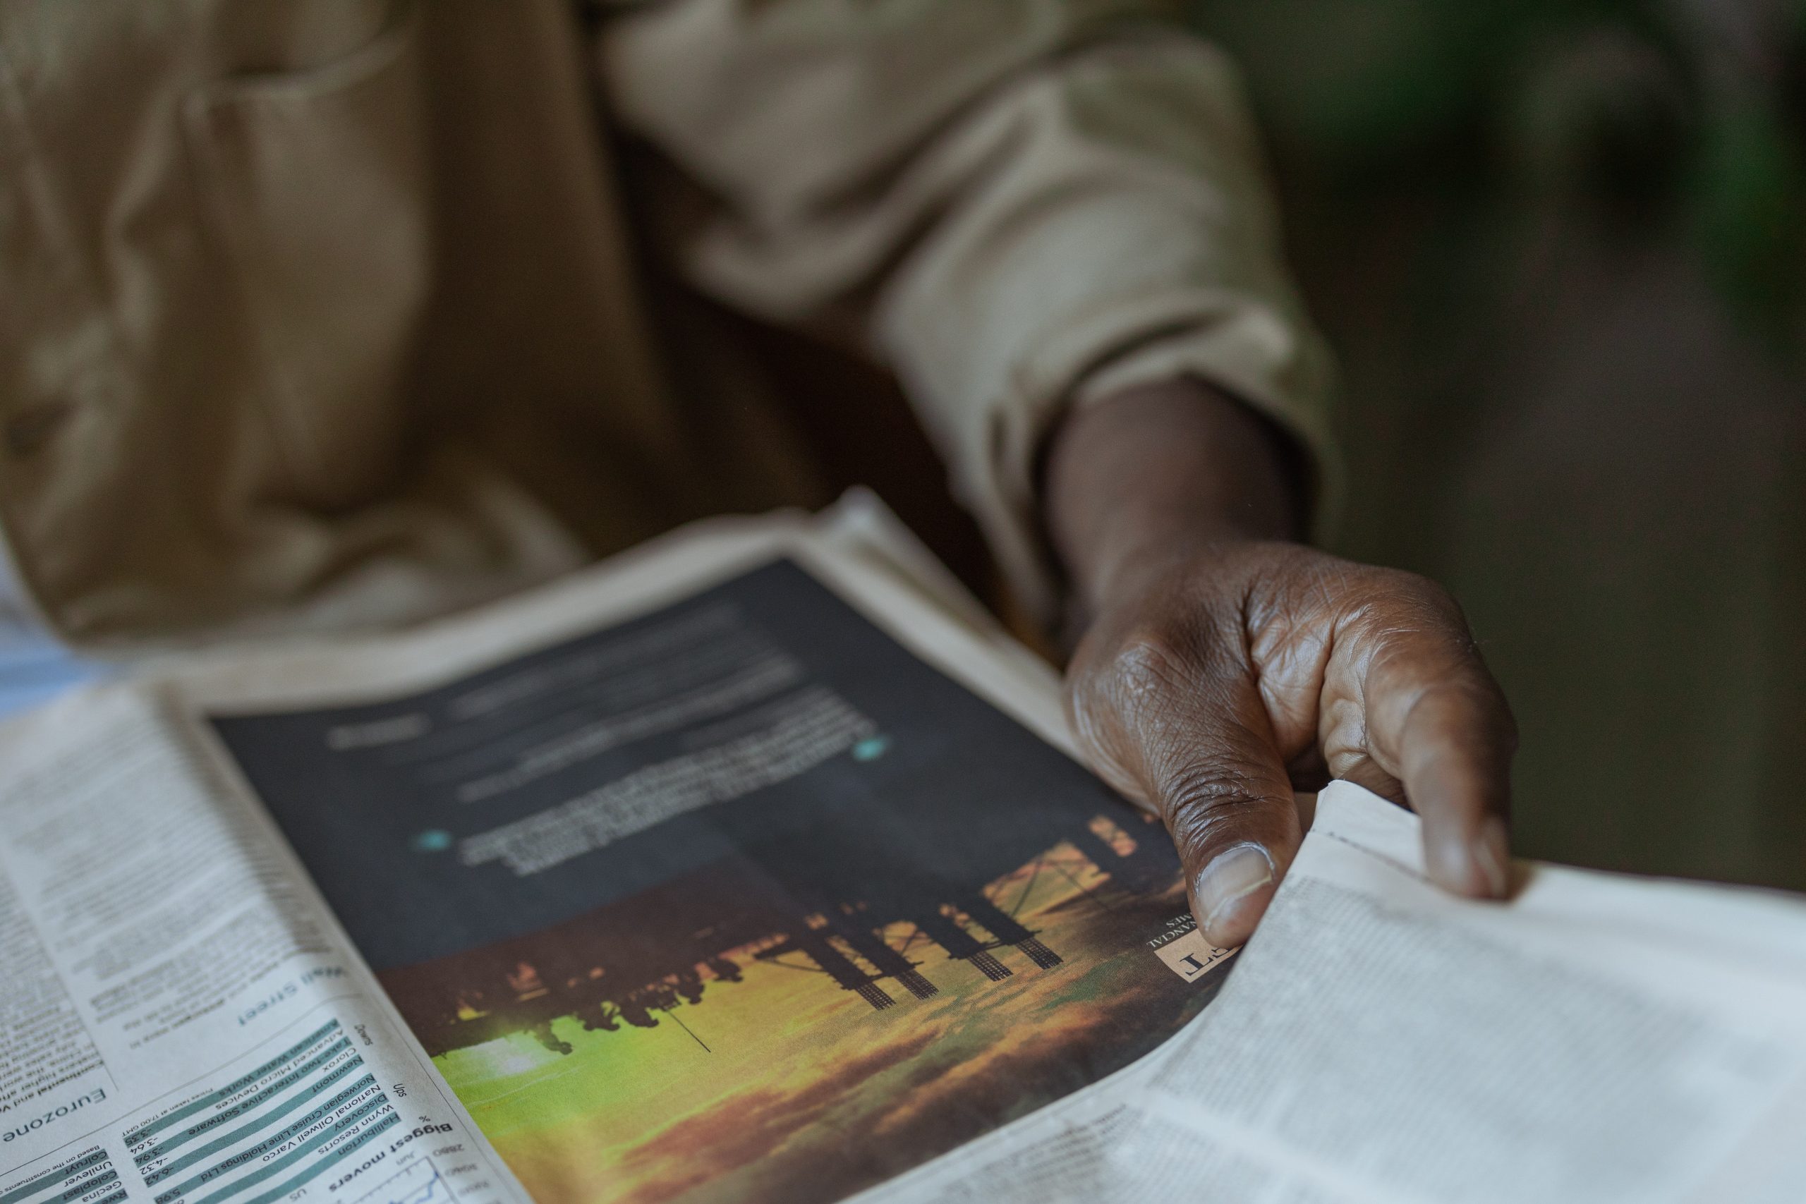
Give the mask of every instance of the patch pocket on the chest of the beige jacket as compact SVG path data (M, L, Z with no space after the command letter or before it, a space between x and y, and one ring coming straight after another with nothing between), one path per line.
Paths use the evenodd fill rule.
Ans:
M296 500L379 493L432 287L421 7L323 67L209 83L182 117Z

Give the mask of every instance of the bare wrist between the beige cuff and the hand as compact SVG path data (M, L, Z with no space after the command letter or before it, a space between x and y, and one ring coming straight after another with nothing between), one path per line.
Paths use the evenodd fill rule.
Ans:
M1049 440L1044 486L1053 547L1087 614L1163 560L1221 542L1299 538L1304 523L1286 437L1192 379L1071 413Z

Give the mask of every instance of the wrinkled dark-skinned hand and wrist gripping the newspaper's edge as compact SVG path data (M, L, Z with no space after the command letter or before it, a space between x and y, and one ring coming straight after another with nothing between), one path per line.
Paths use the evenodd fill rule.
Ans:
M1273 428L1190 381L1105 399L1057 431L1047 498L1084 616L1073 727L1165 820L1208 940L1253 931L1302 839L1293 789L1326 776L1410 805L1443 888L1506 894L1504 695L1447 590L1288 538Z

